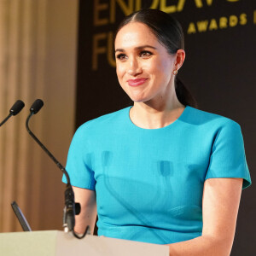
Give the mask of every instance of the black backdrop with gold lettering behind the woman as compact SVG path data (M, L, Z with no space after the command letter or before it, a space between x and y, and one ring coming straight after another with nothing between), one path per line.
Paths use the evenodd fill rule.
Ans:
M115 74L113 34L125 15L141 8L161 9L183 26L186 60L180 79L201 110L241 125L251 177L256 160L255 45L253 0L95 0L80 1L76 127L132 102ZM241 196L232 255L253 255L256 242L255 189ZM253 244L254 243L254 244Z

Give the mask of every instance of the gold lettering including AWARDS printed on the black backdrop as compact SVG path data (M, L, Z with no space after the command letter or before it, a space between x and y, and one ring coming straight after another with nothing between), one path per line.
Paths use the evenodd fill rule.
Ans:
M248 0L94 0L93 20L91 26L96 32L92 35L92 59L91 68L93 71L99 68L99 56L107 57L108 65L115 67L113 56L113 34L114 30L108 27L115 26L120 20L117 15L130 15L134 11L142 8L160 9L167 14L182 14L194 11L200 15L210 9L214 9L213 15L208 15L204 19L191 18L188 24L183 26L184 33L188 36L195 36L199 33L218 32L237 27L253 24L256 26L256 9L243 9ZM217 11L219 3L225 7L225 13ZM239 13L232 13L233 9L239 8ZM221 13L221 15L219 15ZM179 20L179 19L178 19ZM183 24L184 25L184 24ZM102 32L99 32L101 31Z

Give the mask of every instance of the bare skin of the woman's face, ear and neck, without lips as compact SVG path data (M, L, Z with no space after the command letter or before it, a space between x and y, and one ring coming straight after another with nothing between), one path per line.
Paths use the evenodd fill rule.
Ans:
M174 88L174 70L183 65L185 52L167 53L154 34L143 23L124 26L115 39L116 73L119 84L134 106L132 122L142 128L155 129L170 125L183 113ZM137 87L130 79L147 79Z

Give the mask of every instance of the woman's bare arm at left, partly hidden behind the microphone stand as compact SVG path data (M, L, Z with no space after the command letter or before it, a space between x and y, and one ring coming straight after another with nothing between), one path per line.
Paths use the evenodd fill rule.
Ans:
M81 205L81 212L76 215L74 230L80 234L84 233L87 225L90 226L90 232L93 233L96 223L96 192L90 189L80 189L73 187L75 202Z

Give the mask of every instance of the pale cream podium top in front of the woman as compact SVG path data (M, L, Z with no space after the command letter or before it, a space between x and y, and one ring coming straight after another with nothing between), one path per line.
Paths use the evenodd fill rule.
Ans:
M168 256L169 247L91 235L77 239L49 230L0 233L0 252L4 256Z

